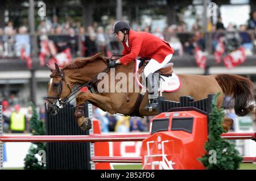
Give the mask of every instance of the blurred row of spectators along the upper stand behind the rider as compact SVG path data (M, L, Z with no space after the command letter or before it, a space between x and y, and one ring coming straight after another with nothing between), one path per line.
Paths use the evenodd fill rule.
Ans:
M122 45L119 44L112 33L112 25L114 20L110 20L108 26L99 26L94 22L92 26L85 28L81 22L75 22L70 16L64 22L59 22L56 15L51 19L42 20L36 29L38 34L38 49L40 50L40 41L49 40L49 51L52 56L61 52L64 48L71 48L73 57L76 56L92 56L97 52L101 52L105 56L119 54L122 52ZM176 55L195 53L195 47L199 46L205 50L205 39L202 27L199 23L192 26L192 30L188 31L185 23L172 24L164 28L155 28L151 31L150 26L141 28L137 22L132 22L131 28L135 31L146 31L168 41L176 50ZM209 26L212 52L214 52L219 37L224 37L224 43L228 52L243 46L246 54L252 54L256 45L256 11L251 13L251 18L247 24L236 27L229 23L225 27L221 17L218 18L216 24ZM254 31L247 31L254 30ZM24 47L26 54L31 53L31 36L26 26L18 29L14 28L12 22L7 23L5 28L0 28L0 58L20 56L20 48Z

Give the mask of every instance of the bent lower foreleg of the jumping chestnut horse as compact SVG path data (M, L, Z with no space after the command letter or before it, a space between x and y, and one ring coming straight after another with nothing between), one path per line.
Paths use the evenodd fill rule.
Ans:
M84 103L86 102L86 100L87 99L85 92L80 92L80 94L76 97L75 117L77 120L77 124L82 129L82 131L92 128L92 120L90 120L89 117L85 117L84 115Z

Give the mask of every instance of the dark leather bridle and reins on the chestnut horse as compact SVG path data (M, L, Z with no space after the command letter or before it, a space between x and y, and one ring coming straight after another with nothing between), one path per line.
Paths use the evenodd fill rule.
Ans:
M106 69L104 69L102 72L103 73L108 73L110 70L109 67L107 67ZM65 81L64 78L64 73L61 72L59 74L55 74L55 75L50 75L51 78L53 77L61 77L61 81L60 81L60 89L59 89L59 94L56 97L53 96L47 96L46 100L48 100L49 103L51 103L53 106L59 108L63 108L66 104L68 104L69 102L71 102L71 100L75 99L77 96L77 92L80 91L80 89L82 87L88 87L88 90L92 89L92 87L99 81L99 79L96 77L94 77L92 80L90 80L89 82L83 83L81 85L79 85L78 87L76 86L76 89L72 90L71 87L68 85L68 82ZM68 96L66 96L63 100L60 98L61 93L63 91L63 82L66 83L66 85L68 86L68 89L71 91L71 94L69 94ZM55 99L57 100L56 103L52 102L51 99Z

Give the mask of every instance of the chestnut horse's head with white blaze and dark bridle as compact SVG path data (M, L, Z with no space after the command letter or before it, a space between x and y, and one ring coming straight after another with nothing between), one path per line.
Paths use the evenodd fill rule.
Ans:
M48 83L48 94L46 108L49 113L56 115L60 108L63 108L65 99L71 94L72 90L65 79L64 72L55 63L55 69L49 67L52 71L51 81Z

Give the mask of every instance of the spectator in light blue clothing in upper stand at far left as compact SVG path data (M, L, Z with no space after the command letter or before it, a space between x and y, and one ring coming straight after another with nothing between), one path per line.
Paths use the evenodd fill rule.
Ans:
M15 36L16 56L20 56L21 48L24 48L26 55L30 56L30 36L25 26L19 27L18 34Z

